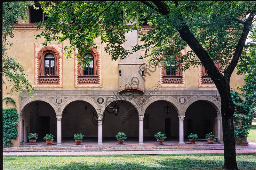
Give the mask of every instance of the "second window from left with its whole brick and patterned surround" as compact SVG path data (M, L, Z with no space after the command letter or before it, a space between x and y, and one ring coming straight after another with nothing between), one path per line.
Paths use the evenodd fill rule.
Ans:
M84 54L84 58L89 58L90 63L83 69L75 59L75 87L102 87L102 51L101 44L98 48L90 48L90 51ZM75 52L77 54L78 51Z

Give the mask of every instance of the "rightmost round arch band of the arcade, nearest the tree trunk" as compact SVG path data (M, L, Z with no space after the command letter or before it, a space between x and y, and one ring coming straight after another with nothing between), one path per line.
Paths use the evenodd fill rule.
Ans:
M213 98L213 97L209 97L209 96L200 96L200 97L193 97L191 99L188 100L188 102L185 104L185 107L184 107L184 114L186 113L188 107L198 101L198 100L204 100L204 101L207 101L209 103L212 104L212 106L216 109L217 113L218 113L218 116L220 116L220 110L221 110L221 103L219 100L216 100L216 98ZM184 115L185 116L185 115Z

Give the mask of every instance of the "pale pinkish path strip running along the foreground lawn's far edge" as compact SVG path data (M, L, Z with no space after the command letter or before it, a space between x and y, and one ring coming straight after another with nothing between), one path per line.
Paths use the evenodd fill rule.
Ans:
M123 154L197 154L224 153L223 150L169 150L169 151L70 151L70 152L4 152L3 155L123 155ZM239 149L236 153L256 153L256 149Z

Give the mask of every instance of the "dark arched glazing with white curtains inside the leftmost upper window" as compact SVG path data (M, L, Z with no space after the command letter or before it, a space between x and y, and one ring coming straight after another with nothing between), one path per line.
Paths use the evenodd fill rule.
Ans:
M54 55L48 53L44 57L44 75L54 76L55 75L55 60Z

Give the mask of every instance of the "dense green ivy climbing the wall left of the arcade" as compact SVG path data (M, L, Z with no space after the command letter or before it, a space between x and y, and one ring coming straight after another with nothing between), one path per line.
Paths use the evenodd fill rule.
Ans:
M13 102L14 107L3 108L3 145L4 147L12 147L11 139L15 139L18 136L18 123L19 114L15 109L16 103L11 97L4 98L6 104L8 101Z

